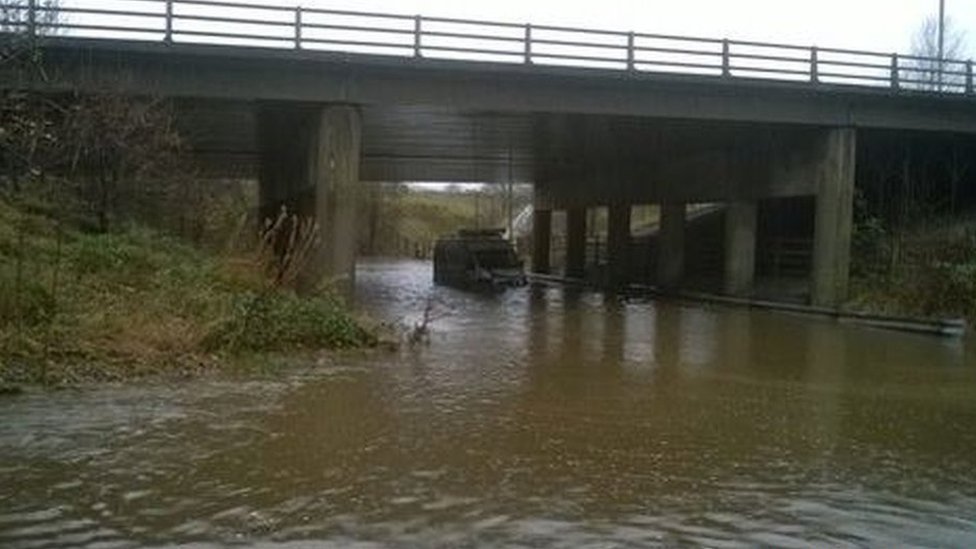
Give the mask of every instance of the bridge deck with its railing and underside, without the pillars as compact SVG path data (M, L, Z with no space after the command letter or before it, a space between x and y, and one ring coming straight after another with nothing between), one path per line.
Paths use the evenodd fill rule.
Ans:
M40 38L48 78L18 84L5 67L0 81L176 98L197 150L225 171L251 171L255 102L357 104L362 173L373 180L528 181L583 153L617 164L672 155L653 148L662 134L668 147L698 143L694 154L678 151L695 162L783 126L976 133L968 62L233 2L138 4L135 19L91 0L51 17L39 8L22 20ZM488 55L496 42L508 49ZM601 150L582 135L604 136Z

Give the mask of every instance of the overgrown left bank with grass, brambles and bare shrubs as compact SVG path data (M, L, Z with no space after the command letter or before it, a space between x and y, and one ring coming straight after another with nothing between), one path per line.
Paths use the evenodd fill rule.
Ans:
M44 78L16 38L0 44L11 82ZM253 185L193 158L168 101L0 86L0 388L376 342L307 276L314 221L259 222Z

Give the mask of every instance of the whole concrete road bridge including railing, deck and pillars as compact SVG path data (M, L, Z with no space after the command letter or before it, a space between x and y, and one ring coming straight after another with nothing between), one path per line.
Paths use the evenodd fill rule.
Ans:
M727 203L733 295L753 285L760 202L812 197L811 300L833 305L859 139L976 134L969 61L232 2L72 6L18 20L47 77L3 81L172 98L214 173L256 176L267 215L319 220L330 275L354 272L360 181L531 182L533 267L550 270L565 210L570 276L587 208L607 207L618 280L631 206L660 204L666 288L686 275L686 204Z

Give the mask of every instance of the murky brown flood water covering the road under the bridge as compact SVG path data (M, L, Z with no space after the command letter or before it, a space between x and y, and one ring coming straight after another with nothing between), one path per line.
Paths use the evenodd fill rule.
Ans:
M0 546L976 545L965 341L359 273L429 345L0 399Z

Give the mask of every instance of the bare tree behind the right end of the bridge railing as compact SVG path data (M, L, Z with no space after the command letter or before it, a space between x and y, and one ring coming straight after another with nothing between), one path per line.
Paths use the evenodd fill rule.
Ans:
M966 35L946 17L942 58L939 58L939 19L930 16L919 25L912 39L912 57L903 65L905 87L921 90L952 89L965 85ZM943 74L947 72L950 74Z

